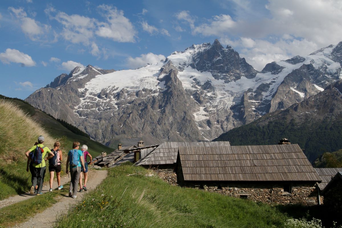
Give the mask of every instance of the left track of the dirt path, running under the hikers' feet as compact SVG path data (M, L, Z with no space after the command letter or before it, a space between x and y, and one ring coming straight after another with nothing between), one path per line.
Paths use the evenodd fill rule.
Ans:
M50 173L47 172L45 175L49 175L50 176ZM55 177L56 177L56 174L55 174ZM68 178L68 175L64 175L63 177L61 177L61 185L64 185L65 183L68 183L69 181L70 181L70 178ZM53 179L53 183L52 183L52 189L55 189L57 187L58 187L57 179L54 178ZM46 182L43 183L42 192L45 193L45 192L48 192L49 190L50 190L50 184L49 184L49 181L46 181ZM22 201L22 200L30 199L30 198L35 197L35 196L36 195L31 195L29 191L21 193L21 194L16 195L16 196L11 196L11 197L9 197L7 199L4 199L4 200L0 201L0 208L4 207L4 206L9 206L9 205L11 205L13 203L16 203L16 202L19 202L19 201Z

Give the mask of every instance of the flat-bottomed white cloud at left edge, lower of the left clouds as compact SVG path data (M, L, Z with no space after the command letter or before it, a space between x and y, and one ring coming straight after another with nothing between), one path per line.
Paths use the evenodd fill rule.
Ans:
M27 67L36 65L31 56L10 48L6 49L6 52L0 53L0 61L4 64L21 63L22 66Z

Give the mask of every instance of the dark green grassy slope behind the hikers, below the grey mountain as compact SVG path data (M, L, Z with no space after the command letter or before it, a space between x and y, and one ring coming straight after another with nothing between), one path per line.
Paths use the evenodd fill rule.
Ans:
M11 100L11 102L17 104L24 112L27 112L30 117L41 123L44 129L49 132L51 136L55 138L63 138L63 142L65 143L63 147L65 150L70 150L72 148L74 140L80 142L81 145L86 144L88 146L89 153L91 153L93 157L100 155L100 153L103 151L108 153L115 150L87 137L71 132L60 122L56 121L46 113L32 107L31 105L25 104L20 100Z

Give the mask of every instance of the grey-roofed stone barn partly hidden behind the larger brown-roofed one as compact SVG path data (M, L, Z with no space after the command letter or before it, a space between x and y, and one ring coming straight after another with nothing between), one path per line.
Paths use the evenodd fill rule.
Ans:
M151 151L142 151L141 159L135 165L153 168L155 172L167 183L177 185L174 172L177 153L182 146L230 146L229 142L164 142Z

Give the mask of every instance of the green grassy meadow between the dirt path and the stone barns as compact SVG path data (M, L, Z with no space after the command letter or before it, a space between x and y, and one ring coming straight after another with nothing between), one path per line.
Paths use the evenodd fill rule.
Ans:
M170 186L150 173L131 164L108 169L56 227L283 227L287 219L275 207Z

